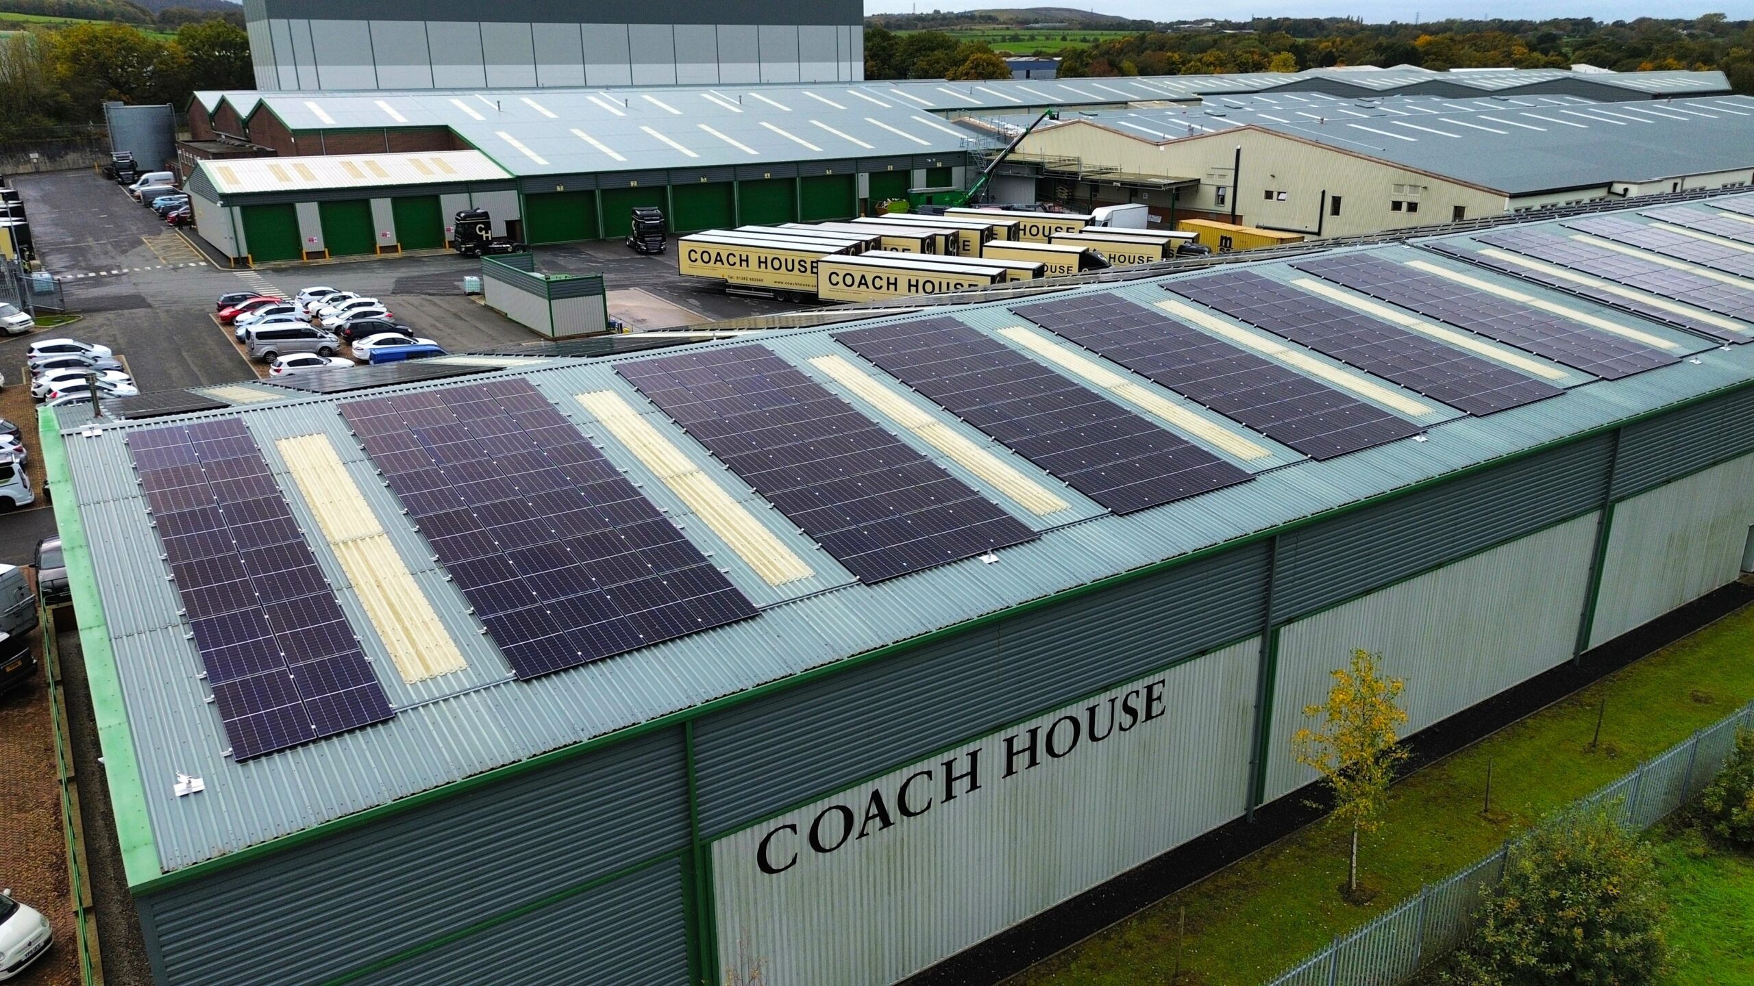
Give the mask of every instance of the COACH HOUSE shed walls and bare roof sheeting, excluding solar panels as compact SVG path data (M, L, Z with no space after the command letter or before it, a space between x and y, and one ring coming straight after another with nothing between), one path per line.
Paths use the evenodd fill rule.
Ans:
M1687 209L1708 216L1710 204ZM1421 430L1317 461L1094 353L1045 337L1024 347L1019 302L951 311L1079 386L1156 407L1251 477L1117 516L882 382L835 340L844 326L691 347L765 346L1038 535L873 584L616 372L642 356L486 370L470 379L526 381L563 409L759 611L530 679L512 677L337 414L454 382L340 397L253 384L235 407L146 421L47 412L44 458L154 975L893 982L1305 784L1286 737L1351 647L1382 651L1410 681L1422 728L1738 575L1754 528L1754 323L1717 318L1703 335L1424 246L1366 253L1537 297L1668 361L1608 381L1477 339L1477 353L1563 393L1468 416L1316 351L1273 356L1349 381ZM1247 268L1296 279L1284 261ZM1145 312L1170 298L1163 284L1077 291ZM1194 332L1284 353L1216 316ZM617 425L603 402L644 425ZM210 419L247 426L379 668L389 721L226 756L126 444ZM945 432L958 440L926 437ZM335 449L358 514L431 602L461 670L395 674L354 572L277 451L303 437ZM652 437L674 454L642 454ZM1021 507L949 451L970 446L1059 505ZM719 486L803 574L761 575L679 477ZM205 791L177 797L177 774Z

